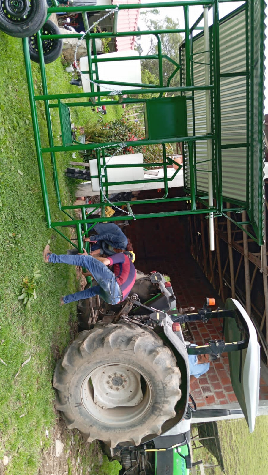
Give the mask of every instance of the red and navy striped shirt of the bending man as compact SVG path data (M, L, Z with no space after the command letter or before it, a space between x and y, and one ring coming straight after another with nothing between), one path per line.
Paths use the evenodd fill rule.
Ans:
M127 257L123 252L119 252L114 256L107 257L110 261L110 266L114 266L113 272L117 284L122 290L124 300L130 293L135 280L136 280L136 269L134 264L131 262L130 258Z

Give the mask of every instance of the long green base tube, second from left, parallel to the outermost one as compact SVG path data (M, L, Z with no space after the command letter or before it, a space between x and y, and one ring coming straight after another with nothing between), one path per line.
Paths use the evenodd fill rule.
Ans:
M38 42L38 50L40 52L43 49L40 31L37 32L36 36L37 36L37 42ZM44 55L40 53L39 53L39 61L40 61L40 73L41 73L43 92L44 94L48 94ZM49 101L44 101L44 105L45 105L45 114L46 114L47 129L48 129L48 143L50 147L53 147L54 140L53 140L52 123L51 123L51 117L50 117L50 111L49 111ZM58 204L59 209L61 209L61 199L60 199L59 185L58 185L58 179L57 179L57 163L56 163L56 157L55 157L54 152L50 152L50 159L51 159L52 168L53 168L53 180L54 180L54 186L55 186L55 193L57 197L57 204Z

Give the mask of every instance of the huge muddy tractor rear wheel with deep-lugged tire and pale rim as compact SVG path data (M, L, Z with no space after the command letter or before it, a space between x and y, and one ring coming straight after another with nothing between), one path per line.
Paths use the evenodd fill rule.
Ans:
M181 398L181 372L150 329L132 323L81 332L57 362L56 408L88 442L139 445L161 434Z

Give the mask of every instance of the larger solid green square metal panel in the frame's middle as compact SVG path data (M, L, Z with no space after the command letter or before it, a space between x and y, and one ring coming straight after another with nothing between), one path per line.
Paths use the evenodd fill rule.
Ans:
M186 97L157 97L144 103L147 140L187 137Z

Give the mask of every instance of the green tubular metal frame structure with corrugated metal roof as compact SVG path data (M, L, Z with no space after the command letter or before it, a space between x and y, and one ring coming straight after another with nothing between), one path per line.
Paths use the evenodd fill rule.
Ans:
M46 66L42 53L42 40L46 38L81 38L82 34L72 33L63 35L41 35L37 33L39 48L40 72L42 78L43 94L36 95L33 85L31 62L29 57L28 39L23 38L23 50L26 65L27 82L29 89L29 101L31 107L33 131L36 144L41 190L45 209L45 217L48 228L55 229L69 243L83 248L83 236L87 235L94 223L101 221L113 221L114 218L105 217L105 208L110 206L105 195L108 193L108 186L118 184L142 183L152 180L132 180L122 182L108 182L107 169L111 167L120 168L122 165L109 165L106 159L110 156L109 150L115 146L120 148L117 142L80 144L72 139L71 122L69 112L72 107L90 107L92 104L106 105L113 107L113 104L144 104L146 137L143 140L128 141L128 146L158 143L162 145L163 161L152 163L150 166L163 165L163 179L155 179L158 188L164 189L161 199L138 199L137 201L116 203L117 206L126 205L128 215L116 217L116 220L160 218L163 216L180 216L195 213L205 213L208 218L226 215L227 211L242 212L247 210L249 220L247 222L236 222L236 225L243 227L250 224L249 235L262 244L263 242L263 75L264 75L264 2L263 0L247 0L239 9L233 11L226 18L219 20L219 3L225 0L195 0L195 1L165 1L150 4L129 4L110 5L111 14L114 15L114 28L112 32L86 32L85 40L88 53L88 74L94 80L95 85L90 83L90 92L65 94L62 90L58 94L49 94L46 81ZM56 5L57 2L54 2ZM189 25L189 9L196 5L204 7L203 14ZM118 10L128 9L161 9L163 7L180 6L183 9L184 28L172 30L153 31L132 31L117 32L116 19ZM88 18L86 12L102 11L107 6L82 6L79 11L83 14L85 31L88 30ZM204 31L204 27L198 26L204 17L204 11L212 10L213 23ZM68 12L77 11L77 7L69 7ZM66 12L63 7L48 8L48 17L51 13ZM206 20L205 20L206 22ZM231 25L231 28L229 26ZM241 34L241 28L243 34ZM226 29L228 34L226 34ZM184 34L185 39L180 45L181 63L178 64L171 58L162 54L161 33ZM116 38L120 36L141 36L154 35L158 42L158 54L137 57L137 59L155 59L159 65L158 84L136 84L118 83L115 87L120 91L103 92L100 85L110 85L111 81L99 80L98 64L107 59L102 59L96 54L96 38ZM241 35L239 42L239 35ZM91 52L90 42L92 41L93 52ZM209 43L206 43L208 41ZM228 51L228 47L238 41L239 47L234 47ZM208 47L209 45L209 47ZM240 48L240 49L239 49ZM242 57L242 59L241 59ZM174 65L172 75L165 82L163 73L163 58L168 59ZM111 58L109 61L133 60L132 56L122 58ZM242 63L240 65L240 63ZM180 78L180 85L171 87L172 77L177 75ZM206 78L206 80L205 80ZM239 81L242 84L239 89ZM124 89L131 86L131 89ZM155 98L137 98L137 95L154 93ZM164 97L165 93L172 93L173 97ZM109 96L114 95L111 102ZM108 96L108 99L107 99ZM118 97L117 97L118 96ZM76 100L79 98L79 102ZM101 100L105 98L104 100ZM48 127L48 143L44 146L41 143L38 127L38 103L44 104ZM170 104L169 104L170 103ZM207 119L203 118L204 111L208 111ZM53 127L51 120L51 109L58 109L59 121L62 131L62 144L55 145ZM155 114L158 111L158 117ZM179 111L177 113L177 111ZM241 111L243 117L241 121ZM169 114L170 112L170 114ZM159 118L162 116L171 117L169 127L161 133L159 130ZM208 117L209 116L209 117ZM182 120L180 119L182 118ZM228 119L229 117L229 119ZM179 125L178 125L178 120ZM208 130L208 121L210 129ZM161 136L160 136L161 135ZM167 176L167 166L173 161L166 156L166 143L183 143L183 172L185 196L169 197L169 182L174 179L179 170L174 171L171 178ZM75 152L79 150L96 150L96 160L98 168L98 180L102 181L100 188L100 204L90 205L91 208L101 208L101 217L94 215L86 216L86 207L63 206L60 198L60 191L57 178L57 153ZM61 221L53 221L50 214L48 189L44 168L45 153L50 153L55 191L59 209L64 217ZM104 166L105 163L105 166ZM129 166L129 165L128 165ZM143 167L143 164L135 164L133 167ZM231 171L228 174L228 171ZM241 175L242 174L242 175ZM211 183L211 190L208 183ZM169 210L172 202L185 202L185 209L177 211ZM191 203L190 209L186 209L186 201ZM231 207L224 206L225 202L230 202ZM137 214L135 206L137 204L152 205L152 212ZM166 204L166 211L158 211L159 203ZM80 208L82 219L75 219L71 214L75 208ZM189 207L188 207L189 208ZM70 224L77 226L77 246L60 231L60 227ZM251 231L252 230L252 231Z

